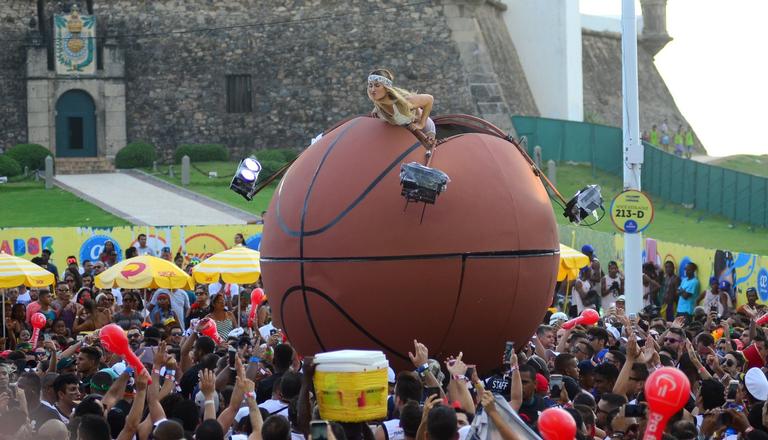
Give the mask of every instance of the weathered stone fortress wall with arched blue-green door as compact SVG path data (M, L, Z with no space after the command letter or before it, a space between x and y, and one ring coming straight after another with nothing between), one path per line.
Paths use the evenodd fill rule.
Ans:
M39 143L57 167L77 157L94 168L135 140L165 155L183 143L301 147L370 111L375 67L434 95L437 114L512 130L510 115L540 114L505 21L516 2L7 0L0 147ZM62 53L82 66L62 67Z

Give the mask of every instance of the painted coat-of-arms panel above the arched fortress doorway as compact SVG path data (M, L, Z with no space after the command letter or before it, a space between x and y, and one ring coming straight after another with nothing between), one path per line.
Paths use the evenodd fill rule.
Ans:
M96 18L80 15L72 6L69 15L54 15L54 51L59 75L96 73Z

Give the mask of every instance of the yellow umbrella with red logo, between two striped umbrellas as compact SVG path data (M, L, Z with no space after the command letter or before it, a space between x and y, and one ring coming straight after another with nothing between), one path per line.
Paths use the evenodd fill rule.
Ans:
M100 289L111 287L193 289L195 287L192 277L172 261L150 255L123 260L96 275L94 282Z

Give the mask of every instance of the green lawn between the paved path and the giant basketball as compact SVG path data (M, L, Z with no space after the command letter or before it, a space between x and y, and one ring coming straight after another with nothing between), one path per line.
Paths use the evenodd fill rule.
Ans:
M277 182L261 190L261 192L256 194L253 200L249 202L241 195L229 189L229 182L232 180L232 175L237 169L237 164L238 162L195 163L189 174L189 186L186 188L208 196L214 200L235 206L244 211L261 215L261 212L266 211L270 200L272 200L272 193L275 192ZM181 186L181 165L173 166L174 177L168 176L168 165L160 165L158 166L158 170L158 173L153 173L151 169L144 169L144 171L155 177L159 177L174 185ZM219 177L208 177L208 172L210 171L216 171Z

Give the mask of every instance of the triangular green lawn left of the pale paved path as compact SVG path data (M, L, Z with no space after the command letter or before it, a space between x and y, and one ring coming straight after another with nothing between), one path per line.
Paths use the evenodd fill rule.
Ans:
M0 227L123 225L130 223L43 181L0 184Z

